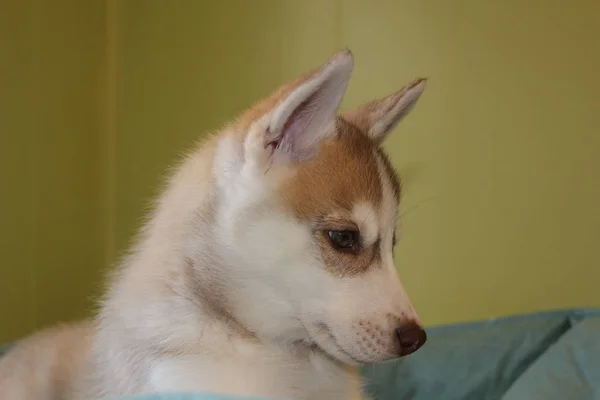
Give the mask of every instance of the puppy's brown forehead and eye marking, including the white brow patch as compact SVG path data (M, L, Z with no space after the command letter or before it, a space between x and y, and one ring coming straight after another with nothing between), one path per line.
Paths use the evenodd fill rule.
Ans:
M315 157L283 183L281 194L287 210L315 227L313 236L327 270L353 276L381 267L382 240L390 242L385 251L391 251L390 227L395 225L400 184L387 158L364 132L341 118L337 130L336 139L323 143ZM332 215L340 221L332 222ZM323 231L340 228L338 222L356 226L364 235L360 254L342 254L331 247Z

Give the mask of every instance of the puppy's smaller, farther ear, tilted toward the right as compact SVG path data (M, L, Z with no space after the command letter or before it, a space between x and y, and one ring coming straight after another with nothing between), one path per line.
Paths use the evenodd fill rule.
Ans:
M346 111L342 116L365 132L373 141L381 144L417 104L417 100L425 90L426 81L424 78L416 79L396 93Z

